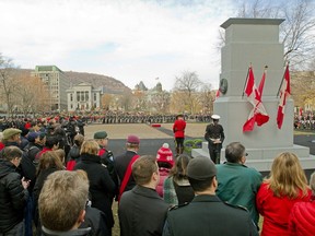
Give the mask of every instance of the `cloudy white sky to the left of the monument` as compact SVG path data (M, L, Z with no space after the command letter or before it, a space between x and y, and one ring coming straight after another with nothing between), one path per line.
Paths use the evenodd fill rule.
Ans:
M233 0L0 0L0 52L16 66L113 76L133 88L196 71L218 87L220 25ZM159 78L156 80L155 78Z

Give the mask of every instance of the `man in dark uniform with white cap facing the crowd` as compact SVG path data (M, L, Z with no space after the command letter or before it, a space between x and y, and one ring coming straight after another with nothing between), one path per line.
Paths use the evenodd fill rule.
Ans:
M220 154L224 141L224 130L219 123L220 116L212 115L212 122L207 126L205 139L208 141L209 154L213 163L220 164Z

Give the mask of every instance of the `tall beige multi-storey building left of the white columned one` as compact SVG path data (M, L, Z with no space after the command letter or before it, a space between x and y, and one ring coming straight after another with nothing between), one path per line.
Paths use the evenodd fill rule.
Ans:
M67 93L69 81L63 71L56 66L36 66L33 76L40 78L49 93L48 104L51 110L67 110Z

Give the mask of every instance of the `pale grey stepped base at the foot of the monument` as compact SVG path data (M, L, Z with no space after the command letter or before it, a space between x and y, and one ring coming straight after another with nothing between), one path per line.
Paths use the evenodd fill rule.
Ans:
M273 158L282 152L292 152L299 156L303 169L315 168L315 156L310 155L310 149L301 145L292 145L288 148L264 148L264 149L246 149L248 156L246 166L256 168L258 172L270 172ZM209 156L208 142L202 142L202 149L192 149L191 156ZM221 163L225 162L225 149L221 150Z

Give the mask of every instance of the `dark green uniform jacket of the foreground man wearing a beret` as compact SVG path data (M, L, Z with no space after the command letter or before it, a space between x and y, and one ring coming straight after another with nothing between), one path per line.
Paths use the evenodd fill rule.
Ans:
M168 212L163 236L170 235L258 236L258 233L245 209L229 205L217 196L201 194Z

